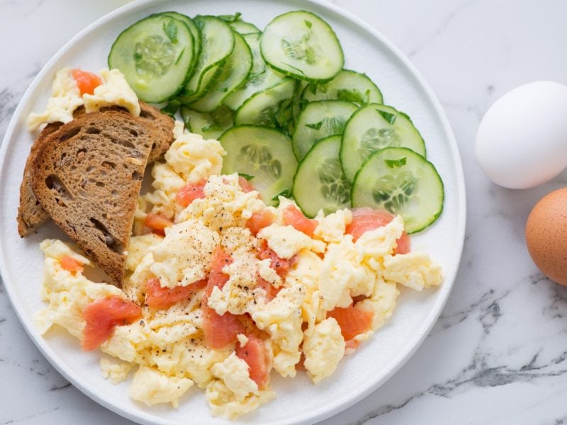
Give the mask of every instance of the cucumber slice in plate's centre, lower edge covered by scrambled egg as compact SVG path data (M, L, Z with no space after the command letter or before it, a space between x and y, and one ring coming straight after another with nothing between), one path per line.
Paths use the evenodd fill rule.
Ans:
M250 183L268 205L276 205L277 196L291 189L297 161L291 139L279 130L241 125L220 136L227 152L223 174L243 173L254 176Z

